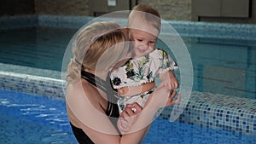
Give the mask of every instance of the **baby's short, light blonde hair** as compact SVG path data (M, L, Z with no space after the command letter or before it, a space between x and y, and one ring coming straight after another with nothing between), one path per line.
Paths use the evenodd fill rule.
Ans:
M149 5L139 4L135 6L128 17L128 28L136 22L134 20L143 20L150 26L154 26L155 29L160 32L161 20L159 12Z

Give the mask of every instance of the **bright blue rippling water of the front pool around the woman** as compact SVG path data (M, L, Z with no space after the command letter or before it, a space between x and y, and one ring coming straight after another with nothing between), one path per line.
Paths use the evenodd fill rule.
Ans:
M62 99L0 89L0 114L0 143L77 143ZM253 144L256 137L157 118L143 141L156 143Z

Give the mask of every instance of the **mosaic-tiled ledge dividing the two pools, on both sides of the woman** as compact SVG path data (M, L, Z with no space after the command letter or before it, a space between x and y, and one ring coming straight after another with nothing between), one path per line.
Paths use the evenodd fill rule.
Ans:
M61 79L45 78L30 74L0 71L0 89L15 90L32 95L43 95L57 99L65 99L65 88L67 83ZM193 91L189 103L183 106L183 112L176 121L195 124L222 130L256 134L256 112L255 109L246 107L223 106L218 103L206 101L204 97L218 99L220 101L230 99L230 95L216 95ZM230 99L231 100L231 99ZM232 97L234 101L256 100ZM172 117L172 107L166 107L158 118L169 119Z

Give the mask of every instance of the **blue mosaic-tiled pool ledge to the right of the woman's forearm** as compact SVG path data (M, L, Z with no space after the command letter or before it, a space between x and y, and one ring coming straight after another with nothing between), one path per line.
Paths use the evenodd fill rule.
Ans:
M242 133L254 135L253 118L255 118L255 100L247 100L230 95L211 94L192 92L189 103L184 108L183 114L177 119L182 123L215 127L223 130L235 130ZM207 97L207 99L206 99ZM201 100L201 101L198 101ZM223 102L214 102L215 100ZM231 101L226 104L224 101ZM236 101L250 101L238 105ZM172 107L163 111L160 117L168 117L167 113L172 112Z

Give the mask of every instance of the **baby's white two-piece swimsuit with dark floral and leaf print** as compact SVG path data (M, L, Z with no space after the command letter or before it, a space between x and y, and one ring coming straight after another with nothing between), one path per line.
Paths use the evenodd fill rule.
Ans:
M170 55L162 49L154 49L151 53L138 58L128 60L124 66L114 69L110 74L113 89L138 86L153 82L159 73L176 70L177 65ZM126 104L137 102L141 107L154 91L150 89L143 94L132 96L119 95L119 111L122 112Z

